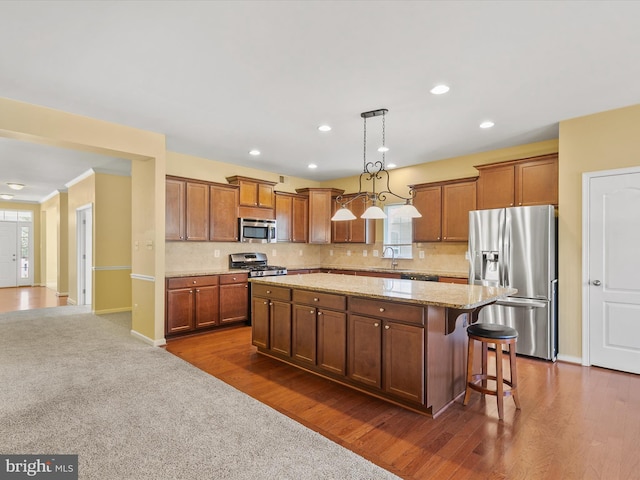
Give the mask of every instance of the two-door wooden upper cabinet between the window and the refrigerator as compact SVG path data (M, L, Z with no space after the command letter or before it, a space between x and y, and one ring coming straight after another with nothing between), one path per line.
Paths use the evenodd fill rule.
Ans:
M413 219L414 242L466 242L469 212L476 209L476 177L412 186L414 205L422 214Z

